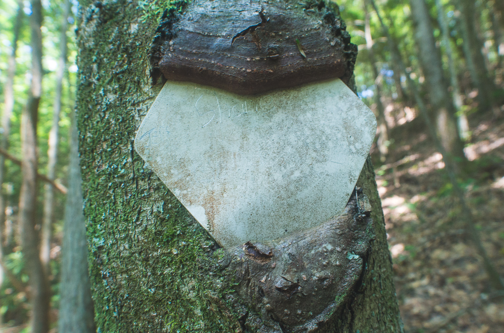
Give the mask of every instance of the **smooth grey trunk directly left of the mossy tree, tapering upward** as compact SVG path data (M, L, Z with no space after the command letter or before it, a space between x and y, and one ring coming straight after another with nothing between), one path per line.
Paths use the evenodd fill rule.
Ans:
M79 134L77 132L75 111L72 112L71 118L69 192L65 207L64 236L61 251L58 331L92 333L96 329L88 272L86 223L82 212Z

